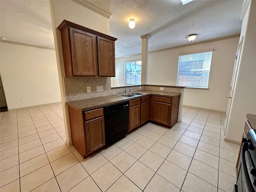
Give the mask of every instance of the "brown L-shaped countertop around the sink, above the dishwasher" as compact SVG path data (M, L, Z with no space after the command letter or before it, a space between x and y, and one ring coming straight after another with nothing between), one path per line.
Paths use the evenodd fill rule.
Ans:
M140 96L134 96L134 97L122 97L118 95L109 95L109 96L103 96L103 97L96 97L91 99L83 99L83 100L77 100L77 101L70 101L66 102L68 106L71 106L72 108L75 108L78 111L88 111L93 110L96 108L104 107L111 104L116 104L124 101L129 101L137 98L142 98L144 96L154 95L154 96L165 96L165 97L176 97L179 96L181 93L172 93L172 92L161 92L161 91L148 91L148 90L142 90L139 91L140 93L145 93ZM132 94L132 93L131 93Z

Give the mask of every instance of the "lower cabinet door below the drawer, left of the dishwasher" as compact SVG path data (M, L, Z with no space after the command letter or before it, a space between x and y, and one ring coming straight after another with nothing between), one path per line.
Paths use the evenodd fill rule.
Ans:
M85 122L86 152L88 154L105 145L104 118L99 117Z

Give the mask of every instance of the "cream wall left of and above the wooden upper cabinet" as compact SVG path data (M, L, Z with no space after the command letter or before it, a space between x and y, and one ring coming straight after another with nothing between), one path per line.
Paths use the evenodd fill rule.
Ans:
M102 32L104 34L109 34L109 19L97 14L73 2L71 0L50 0L50 10L52 17L52 28L54 34L54 43L56 50L56 58L58 64L58 72L59 72L59 82L60 82L60 92L62 98L62 108L63 108L63 116L64 116L64 124L66 131L66 143L68 145L71 144L71 134L70 134L70 126L68 119L68 108L66 106L66 96L64 89L64 62L62 55L62 44L61 44L61 36L60 31L57 29L59 24L65 19L70 22L74 22L76 24L80 24L87 28L96 30L98 32Z

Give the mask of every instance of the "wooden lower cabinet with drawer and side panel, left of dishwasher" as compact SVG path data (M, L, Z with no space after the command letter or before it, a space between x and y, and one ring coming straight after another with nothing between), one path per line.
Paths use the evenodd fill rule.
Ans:
M72 144L84 158L105 146L103 108L86 112L68 106Z

